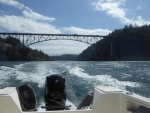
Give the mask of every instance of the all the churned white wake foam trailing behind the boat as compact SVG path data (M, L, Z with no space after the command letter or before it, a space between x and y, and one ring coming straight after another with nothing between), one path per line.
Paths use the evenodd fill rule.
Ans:
M60 64L60 62L58 63ZM57 69L59 66L58 64L55 64L57 66L50 67L49 63L37 63L36 69L34 72L23 72L21 69L23 66L28 65L28 63L15 65L14 68L6 67L6 66L0 66L0 84L4 84L7 79L10 79L11 77L15 77L17 80L20 80L22 82L33 82L37 83L39 87L43 87L45 83L46 76L50 74L58 74L59 71L62 71L62 69ZM116 65L116 63L114 64ZM63 65L64 69L70 69L71 66L66 66L66 64ZM60 67L61 68L61 67ZM91 84L107 84L115 87L119 87L121 89L125 89L126 86L130 87L139 87L140 84L136 82L130 82L130 81L119 81L115 78L113 78L111 75L89 75L86 73L86 71L80 67L74 67L69 70L69 73L71 76L78 76L83 78L84 80L90 82ZM131 76L127 74L123 74L125 76ZM5 83L6 84L6 83ZM7 83L9 84L9 83Z

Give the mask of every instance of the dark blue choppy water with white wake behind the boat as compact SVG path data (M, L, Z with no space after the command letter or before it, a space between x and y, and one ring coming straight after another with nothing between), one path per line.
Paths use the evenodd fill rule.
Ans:
M94 85L109 85L150 97L150 62L0 62L0 87L30 84L43 102L45 78L61 74L67 98L78 105Z

